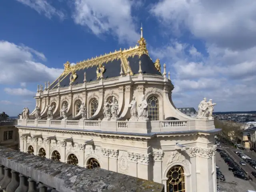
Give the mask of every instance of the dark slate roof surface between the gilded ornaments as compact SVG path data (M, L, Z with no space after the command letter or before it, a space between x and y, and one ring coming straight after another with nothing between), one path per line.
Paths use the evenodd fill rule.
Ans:
M146 55L142 54L142 56L139 58L138 55L135 55L134 57L128 57L127 59L130 63L130 68L133 72L133 74L138 74L139 71L139 61L141 61L141 68L142 68L142 73L144 74L156 74L156 75L161 75L160 72L155 68L154 62L151 60L151 58ZM107 63L103 63L103 66L105 66L105 72L103 74L104 79L108 78L113 78L120 76L120 65L121 65L121 60L113 60ZM92 66L89 68L77 70L77 78L76 80L72 83L72 85L80 84L84 82L84 72L86 72L86 82L91 82L97 80L97 70L98 66ZM123 71L124 72L124 71ZM60 86L65 87L69 86L70 83L70 74L68 74L63 80L60 81ZM50 86L50 89L54 88L58 84L58 81L54 82ZM56 87L55 87L56 88Z

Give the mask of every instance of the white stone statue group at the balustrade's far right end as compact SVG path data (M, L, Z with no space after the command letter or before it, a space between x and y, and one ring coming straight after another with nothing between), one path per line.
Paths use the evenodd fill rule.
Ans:
M203 119L210 119L212 120L212 112L214 110L214 105L216 103L212 103L212 99L210 99L208 102L206 102L206 98L200 102L198 105L198 118L203 118Z

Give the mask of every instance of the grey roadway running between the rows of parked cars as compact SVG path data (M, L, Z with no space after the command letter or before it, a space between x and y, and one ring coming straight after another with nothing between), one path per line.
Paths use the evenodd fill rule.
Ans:
M230 157L232 157L233 160L235 160L239 165L240 165L240 163L239 163L240 161L244 161L236 153L234 153L234 151L236 151L238 149L234 148L233 146L231 146L229 144L225 145L225 144L221 143L220 145L222 146L221 149L226 150L226 152L230 155ZM244 152L245 154L250 156L250 158L252 158L253 160L256 160L256 153L255 152L250 152L250 151L249 152L248 151L242 151L242 152ZM254 188L256 189L256 178L254 178L254 176L252 176L252 174L251 174L252 171L256 172L256 170L254 168L252 168L247 163L246 163L246 166L240 165L240 167L244 169L244 171L247 173L247 176L250 175L250 177L252 178L252 182L250 182L250 184L252 184L252 186L254 186Z

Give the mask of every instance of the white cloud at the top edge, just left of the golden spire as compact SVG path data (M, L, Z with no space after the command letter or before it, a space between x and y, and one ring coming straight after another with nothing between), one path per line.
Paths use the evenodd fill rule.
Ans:
M131 0L74 0L74 22L88 27L94 34L114 34L120 42L136 42Z

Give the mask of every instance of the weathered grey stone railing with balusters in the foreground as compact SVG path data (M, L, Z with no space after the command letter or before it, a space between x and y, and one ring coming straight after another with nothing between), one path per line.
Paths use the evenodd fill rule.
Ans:
M92 170L0 146L0 189L6 192L164 192L152 181Z

